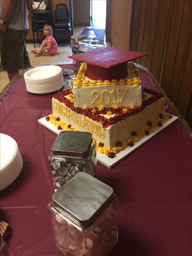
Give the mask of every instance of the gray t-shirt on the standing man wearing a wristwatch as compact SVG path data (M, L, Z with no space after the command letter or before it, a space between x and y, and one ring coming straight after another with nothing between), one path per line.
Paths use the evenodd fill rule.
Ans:
M1 14L3 1L6 0L0 0ZM13 30L29 29L26 0L13 1L13 10L9 17L9 20L7 21L7 27Z

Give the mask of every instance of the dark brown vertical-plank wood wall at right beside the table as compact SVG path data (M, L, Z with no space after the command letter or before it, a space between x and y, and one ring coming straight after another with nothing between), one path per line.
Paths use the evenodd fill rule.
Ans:
M191 10L191 0L133 1L129 50L149 53L136 63L151 71L192 127Z

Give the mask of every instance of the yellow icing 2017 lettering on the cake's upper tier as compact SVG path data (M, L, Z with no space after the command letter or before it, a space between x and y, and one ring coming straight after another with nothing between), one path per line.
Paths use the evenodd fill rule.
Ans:
M115 89L113 89L113 91L111 91L110 93L107 91L107 90L103 90L103 92L102 92L102 95L101 95L101 101L99 101L99 102L96 102L95 100L97 100L99 97L100 97L100 93L98 92L98 91L93 91L92 92L92 94L95 94L95 93L97 93L97 96L95 97L95 99L91 102L91 104L101 104L101 103L104 103L104 104L108 104L108 103L122 103L122 101L123 101L123 98L125 97L125 94L127 93L127 91L128 91L128 89L125 89L125 90L123 90L123 89L117 89L117 91L119 92L119 91L124 91L124 94L123 94L123 96L122 96L122 98L120 99L120 100L116 100L116 96L115 96ZM113 94L113 96L114 96L114 100L111 100L111 97L110 97L110 94ZM104 102L104 95L108 95L108 100L107 100L107 102Z

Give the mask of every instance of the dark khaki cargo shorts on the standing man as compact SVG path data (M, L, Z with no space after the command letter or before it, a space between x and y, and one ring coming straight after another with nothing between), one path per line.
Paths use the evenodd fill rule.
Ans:
M0 35L1 64L3 70L22 69L24 64L30 63L26 51L25 40L28 29L13 30L7 28L5 33Z

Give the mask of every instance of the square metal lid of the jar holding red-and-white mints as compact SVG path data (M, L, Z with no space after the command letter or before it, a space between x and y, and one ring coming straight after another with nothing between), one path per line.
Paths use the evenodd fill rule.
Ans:
M53 205L81 227L88 227L113 200L113 189L85 172L77 173L52 196Z

